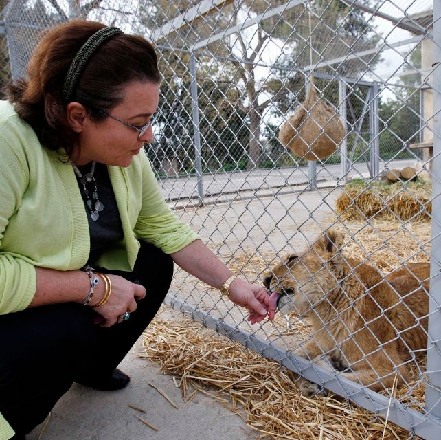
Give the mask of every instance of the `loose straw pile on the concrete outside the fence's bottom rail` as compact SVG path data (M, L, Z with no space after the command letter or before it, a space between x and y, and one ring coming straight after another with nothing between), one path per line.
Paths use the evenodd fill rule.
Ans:
M144 339L146 358L159 362L184 401L210 395L242 417L258 439L407 439L403 428L334 395L308 399L291 372L190 320L155 320Z

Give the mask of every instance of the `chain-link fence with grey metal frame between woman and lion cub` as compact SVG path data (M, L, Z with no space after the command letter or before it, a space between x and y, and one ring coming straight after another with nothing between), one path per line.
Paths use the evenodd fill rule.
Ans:
M182 272L170 305L300 373L304 393L440 436L438 1L12 0L3 17L2 78L75 17L155 43L164 197L280 313L251 327Z

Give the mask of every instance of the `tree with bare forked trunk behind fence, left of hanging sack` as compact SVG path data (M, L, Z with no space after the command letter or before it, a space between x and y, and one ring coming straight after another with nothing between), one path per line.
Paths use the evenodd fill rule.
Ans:
M284 2L271 1L271 6L276 7L281 3ZM269 2L264 0L236 0L230 25L238 24L245 9L249 16L267 8ZM291 107L293 100L289 99L290 96L294 96L295 100L304 96L305 73L300 72L301 66L313 64L318 56L328 57L327 52L339 53L341 56L348 52L348 45L372 47L378 40L370 32L363 12L351 10L350 6L340 0L316 0L310 2L309 9L300 5L282 17L274 16L260 21L248 39L245 32L238 32L234 44L223 41L234 65L231 79L236 85L237 96L246 96L246 99L238 98L236 103L249 118L248 169L258 166L262 158L260 126L267 107L274 104L275 107L280 106L280 111ZM329 38L326 38L327 35ZM258 62L266 56L264 51L269 50L270 42L282 47L287 53L286 56L279 56L277 63L272 66L280 76L270 73L267 78L258 78ZM374 62L370 60L371 65ZM363 58L355 58L341 63L339 70L343 74L349 69L354 73L365 69L365 65Z

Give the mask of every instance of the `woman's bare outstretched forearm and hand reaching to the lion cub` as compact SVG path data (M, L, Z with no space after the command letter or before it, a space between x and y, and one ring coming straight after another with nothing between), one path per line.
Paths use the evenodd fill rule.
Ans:
M193 241L171 256L185 272L216 289L222 287L233 274L201 240ZM274 310L269 309L269 296L263 287L236 278L229 285L229 292L228 298L233 303L249 310L248 320L251 324L260 322L267 315L271 320L274 318Z

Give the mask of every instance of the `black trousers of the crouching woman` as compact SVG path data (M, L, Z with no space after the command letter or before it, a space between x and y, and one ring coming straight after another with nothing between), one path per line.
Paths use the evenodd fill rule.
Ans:
M168 292L173 261L142 243L133 272L104 270L146 287L130 319L102 328L91 307L64 303L0 316L0 412L27 434L82 377L111 373L157 313Z

